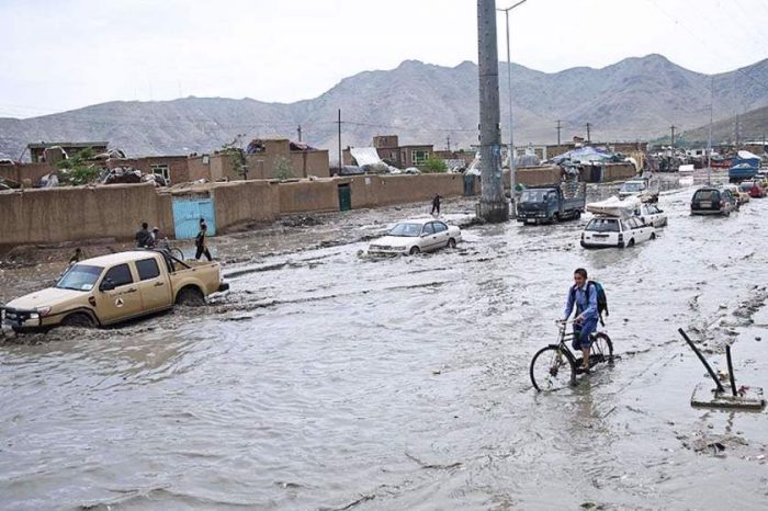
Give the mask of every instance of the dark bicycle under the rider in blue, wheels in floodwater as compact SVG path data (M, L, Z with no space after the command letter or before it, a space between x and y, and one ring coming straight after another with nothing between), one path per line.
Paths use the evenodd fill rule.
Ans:
M567 386L576 385L576 375L584 372L581 368L581 357L574 355L569 342L574 340L573 331L567 332L568 323L572 321L555 321L560 325L560 336L557 344L550 344L542 348L531 360L531 383L539 390L560 390ZM606 332L595 332L590 334L592 340L589 352L589 368L591 370L601 363L613 363L613 343Z

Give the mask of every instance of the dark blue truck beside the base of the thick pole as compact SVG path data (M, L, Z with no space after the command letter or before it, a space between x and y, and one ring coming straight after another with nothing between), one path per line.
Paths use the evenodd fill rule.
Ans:
M587 185L578 181L531 186L522 191L517 206L517 220L524 224L552 224L576 219L584 213Z

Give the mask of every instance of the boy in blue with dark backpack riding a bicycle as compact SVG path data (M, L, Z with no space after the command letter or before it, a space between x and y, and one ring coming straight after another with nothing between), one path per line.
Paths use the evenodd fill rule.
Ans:
M590 336L597 330L599 319L597 308L597 288L595 284L587 281L587 271L583 268L574 272L575 284L568 288L568 298L565 303L563 321L567 321L576 306L576 317L574 318L574 350L581 350L581 370L589 372L589 350L592 345Z

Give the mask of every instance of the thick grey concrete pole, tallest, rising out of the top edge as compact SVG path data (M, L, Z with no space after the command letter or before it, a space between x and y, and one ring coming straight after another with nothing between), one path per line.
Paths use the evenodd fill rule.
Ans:
M501 173L495 0L477 0L477 54L479 64L481 182L483 185L479 215L487 222L507 222L509 219L509 203L504 196Z

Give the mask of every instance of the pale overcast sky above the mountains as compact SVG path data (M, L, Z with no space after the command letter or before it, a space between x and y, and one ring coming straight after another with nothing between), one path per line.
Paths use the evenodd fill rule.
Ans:
M0 116L187 95L293 102L405 59L477 61L476 5L0 0ZM768 58L766 29L768 0L528 0L511 13L512 60L555 72L658 53L722 72Z

